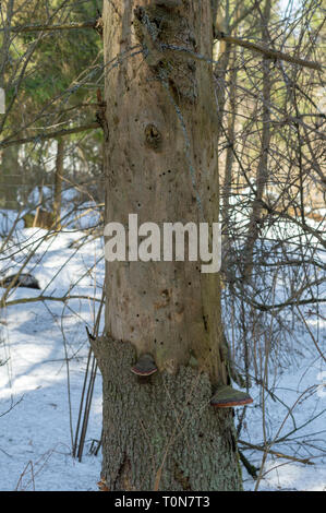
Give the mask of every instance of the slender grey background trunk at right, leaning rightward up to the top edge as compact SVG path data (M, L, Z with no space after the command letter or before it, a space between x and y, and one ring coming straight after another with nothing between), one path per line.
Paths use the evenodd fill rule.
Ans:
M263 40L269 41L267 26L270 19L270 0L266 0L263 13ZM243 278L250 281L253 271L253 253L255 242L259 237L259 220L262 215L262 199L268 179L268 151L270 142L270 60L263 59L263 130L261 157L256 174L256 193L247 229L247 242L244 249Z

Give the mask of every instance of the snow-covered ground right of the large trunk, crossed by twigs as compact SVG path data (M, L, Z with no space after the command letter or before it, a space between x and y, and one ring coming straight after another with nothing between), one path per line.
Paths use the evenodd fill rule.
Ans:
M298 368L289 368L277 380L275 399L265 394L266 439L270 442L287 436L285 442L270 449L300 460L311 457L314 465L269 456L259 490L326 490L326 389L323 382L325 385L325 365L323 368L316 355L305 350ZM254 403L249 408L245 429L240 437L257 445L264 441L261 394L257 386L251 389ZM290 413L288 407L292 407ZM244 455L251 464L261 465L263 452L244 451ZM245 470L243 478L244 488L253 490L255 482Z

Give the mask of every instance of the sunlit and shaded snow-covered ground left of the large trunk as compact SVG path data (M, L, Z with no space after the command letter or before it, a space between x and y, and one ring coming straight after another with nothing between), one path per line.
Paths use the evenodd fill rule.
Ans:
M27 251L27 246L36 248L45 235L45 230L29 228L20 230L15 238ZM26 271L38 279L44 295L62 297L70 290L73 296L100 299L104 263L97 261L102 256L101 242L82 244L76 251L84 235L63 232L37 248ZM11 251L8 271L14 273L20 256L14 254L15 248ZM0 262L7 270L8 260ZM17 288L8 300L39 294ZM100 456L88 452L92 440L98 440L101 432L100 374L82 463L71 456L68 393L75 430L88 354L85 326L93 329L97 309L92 299L71 299L67 303L14 305L1 311L0 361L7 363L0 367L0 490L97 490Z

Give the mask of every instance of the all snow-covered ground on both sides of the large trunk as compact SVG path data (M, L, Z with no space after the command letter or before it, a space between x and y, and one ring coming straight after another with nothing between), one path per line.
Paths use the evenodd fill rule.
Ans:
M45 235L19 225L14 241L20 246L2 252L0 271L17 272L34 248L25 272L39 281L41 294L60 298L69 291L84 299L12 303L0 312L0 361L4 362L0 367L0 490L97 490L100 454L90 455L89 448L101 432L99 374L82 463L71 455L71 429L76 426L88 354L85 325L92 330L99 305L92 298L101 297L102 244L99 239L83 242L81 230L65 229L48 240ZM39 294L17 288L8 301ZM306 319L325 351L325 321ZM265 432L273 441L293 431L291 441L288 438L271 450L298 458L314 456L314 465L268 456L259 490L326 490L326 368L309 335L298 333L298 337L303 343L297 365L278 372L274 398L265 394ZM258 445L264 441L261 387L254 385L251 394L254 404L247 408L240 438ZM293 406L290 411L289 406ZM257 466L263 457L259 451L244 454ZM245 470L243 477L245 489L253 490L255 482Z

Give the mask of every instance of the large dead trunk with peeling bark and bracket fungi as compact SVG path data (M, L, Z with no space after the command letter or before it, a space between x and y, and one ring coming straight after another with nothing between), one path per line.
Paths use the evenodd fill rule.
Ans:
M106 222L218 220L217 116L209 2L178 9L145 0L105 2ZM136 5L140 5L135 11ZM155 35L155 37L153 37ZM155 39L155 47L153 47ZM149 52L123 58L136 44ZM186 258L185 258L186 260ZM94 343L104 381L102 480L109 490L239 490L230 409L209 399L228 382L219 274L200 262L112 262L107 337ZM130 371L153 355L158 373Z

